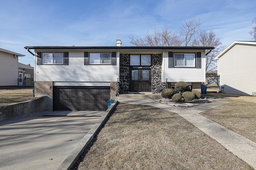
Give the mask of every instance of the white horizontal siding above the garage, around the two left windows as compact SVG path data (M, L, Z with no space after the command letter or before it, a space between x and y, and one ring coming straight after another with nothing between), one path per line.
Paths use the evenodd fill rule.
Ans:
M84 65L84 52L69 52L68 59L69 65L35 65L35 81L116 82L119 77L119 53L116 65Z

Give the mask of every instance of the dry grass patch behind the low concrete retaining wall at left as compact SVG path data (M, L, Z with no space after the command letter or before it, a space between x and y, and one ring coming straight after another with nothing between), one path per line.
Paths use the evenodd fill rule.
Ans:
M33 99L33 88L0 90L0 106Z

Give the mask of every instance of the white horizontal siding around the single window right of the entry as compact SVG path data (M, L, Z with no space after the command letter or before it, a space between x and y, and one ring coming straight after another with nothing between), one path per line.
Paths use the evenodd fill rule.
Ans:
M168 68L168 51L164 52L163 63L162 63L162 81L168 82L205 82L205 51L191 51L188 53L195 54L195 52L201 52L202 56L202 68L193 67L174 67ZM180 53L180 51L174 51ZM184 60L183 60L184 61ZM188 60L189 61L189 60ZM186 61L186 62L188 62ZM194 63L195 64L195 63Z

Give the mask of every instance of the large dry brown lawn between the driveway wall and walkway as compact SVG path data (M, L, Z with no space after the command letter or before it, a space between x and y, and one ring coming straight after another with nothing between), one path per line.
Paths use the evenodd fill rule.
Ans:
M251 169L178 114L122 103L82 157L79 170Z

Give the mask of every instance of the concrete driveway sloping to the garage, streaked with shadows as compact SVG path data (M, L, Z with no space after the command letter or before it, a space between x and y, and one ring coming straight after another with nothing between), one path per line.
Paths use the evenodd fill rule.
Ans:
M0 170L57 169L103 113L54 111L0 121Z

